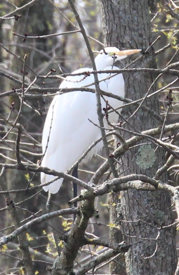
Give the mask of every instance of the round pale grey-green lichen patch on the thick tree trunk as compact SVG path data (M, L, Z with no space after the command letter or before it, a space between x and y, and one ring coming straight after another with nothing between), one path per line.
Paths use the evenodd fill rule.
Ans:
M137 154L136 163L141 169L148 169L155 163L155 152L151 145L142 145Z

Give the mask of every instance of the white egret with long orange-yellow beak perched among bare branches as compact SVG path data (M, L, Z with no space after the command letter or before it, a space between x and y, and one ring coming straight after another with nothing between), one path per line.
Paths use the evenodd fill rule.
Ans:
M128 55L135 54L141 50L122 50L116 47L106 47L101 50L95 58L97 70L116 70L118 67L113 66L115 61L122 60ZM74 74L82 72L91 72L90 68L81 68L74 71ZM98 73L98 80L109 77L109 73ZM81 80L81 81L80 81ZM76 91L56 95L50 104L42 134L42 151L45 153L42 159L42 166L55 169L59 172L67 171L86 151L86 149L101 136L100 128L94 124L99 124L96 107L96 96L94 93L78 91L79 87L89 85L95 88L94 76L90 74L85 79L83 76L67 76L60 84L60 91L63 88L77 88ZM100 82L100 89L111 92L115 95L124 97L124 79L122 74L118 74L110 79ZM123 102L106 97L109 105L113 108L122 106ZM102 108L106 103L101 98ZM109 121L117 121L115 112L109 116ZM93 121L91 123L88 119ZM104 125L107 127L107 123ZM86 156L88 159L97 153L102 143L98 143ZM42 184L52 180L53 175L41 173ZM44 186L45 191L55 194L59 191L63 178Z

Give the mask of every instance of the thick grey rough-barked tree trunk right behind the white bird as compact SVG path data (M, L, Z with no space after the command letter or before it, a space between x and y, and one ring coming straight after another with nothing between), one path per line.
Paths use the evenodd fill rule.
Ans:
M101 4L106 45L117 46L120 49L146 50L153 42L148 1L101 0ZM127 62L129 63L129 60ZM134 66L156 68L153 48ZM138 72L124 74L124 78L126 97L133 100L143 97L154 81L152 75ZM152 86L150 93L153 91L155 91L155 85ZM157 97L145 100L144 105L159 113ZM136 107L124 108L122 115L128 118L135 109ZM150 113L143 110L137 111L129 121L140 132L159 125ZM125 125L125 128L133 130L128 125ZM131 137L130 134L124 134L125 139L129 137ZM164 151L157 149L154 152L155 148L154 144L148 144L126 152L121 159L126 169L123 171L124 174L143 173L153 177L165 161ZM166 182L167 175L162 175L161 180ZM121 192L121 206L119 206L119 194L114 194L112 200L116 206L111 213L111 222L120 224L123 238L132 244L130 251L125 255L126 273L130 275L174 274L177 261L175 228L157 229L174 221L169 194L163 191L127 190ZM122 221L119 222L119 220ZM125 221L131 221L131 223ZM119 241L116 240L118 235L113 230L111 238ZM113 263L111 273L124 274L124 270Z

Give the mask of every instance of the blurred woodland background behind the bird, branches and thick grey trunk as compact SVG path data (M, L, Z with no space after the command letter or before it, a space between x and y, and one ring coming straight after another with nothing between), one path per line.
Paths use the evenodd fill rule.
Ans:
M157 66L162 69L171 61L172 63L178 61L179 1L169 1L167 4L165 1L151 2L150 17L153 33L151 43L156 40L153 47ZM18 11L17 7L29 3L31 3L29 6ZM99 1L76 0L75 6L92 49L104 48ZM6 18L5 15L7 15ZM8 121L15 121L18 117L20 108L18 89L21 89L22 86L25 54L27 54L26 63L32 69L26 66L24 85L27 87L32 83L34 88L24 96L23 112L18 117L18 123L24 127L21 135L20 153L22 160L38 163L42 157L41 137L46 113L60 84L60 79L56 75L61 72L71 72L80 67L91 67L86 45L68 1L65 0L44 0L43 4L42 1L34 3L34 1L27 0L1 0L0 43L0 165L16 163L17 132L16 129L11 128L12 125ZM168 85L159 94L161 116L167 115L167 124L179 120L178 84L179 81L176 80L176 77L166 74L157 83L158 89ZM173 97L170 108L167 106L166 98L169 88ZM174 134L175 132L171 132L171 135ZM176 141L175 144L178 142ZM88 182L103 161L103 151L100 155L93 157L90 163L86 163L84 160L79 167L79 178ZM175 166L170 169L170 183L178 185L178 181L178 163L175 162ZM40 175L39 173L8 169L5 174L5 182L9 190L25 189L27 186L39 185ZM52 195L50 211L68 207L68 201L72 196L72 184L65 182L60 191ZM48 194L45 191L37 192L31 188L25 192L12 193L12 198L21 211L23 221L29 219L29 216L38 216L47 211ZM110 229L108 199L108 195L98 199L97 209L99 209L100 218L93 218L88 229L89 232L103 236L106 240L109 238ZM52 231L58 239L59 234L68 232L72 222L72 215L65 219L58 217L51 222L34 226L28 232L28 243L31 253L34 255L37 273L47 274L46 267L53 264L57 250L61 249L62 244L55 243ZM0 194L0 236L12 231L13 225L8 211L6 211L6 202L4 196ZM91 251L100 253L100 250L103 251L104 248L98 247L98 251L96 251L94 247L83 247L79 254L78 264L82 265L85 260L87 261L91 257ZM23 274L16 243L9 242L7 246L4 246L0 256L0 274ZM101 267L97 272L108 273L108 268Z

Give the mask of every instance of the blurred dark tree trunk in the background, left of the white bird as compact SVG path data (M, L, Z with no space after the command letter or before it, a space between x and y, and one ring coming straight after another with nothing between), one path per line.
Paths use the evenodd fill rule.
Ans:
M16 0L14 1L14 4L20 7L27 4L28 2L29 1L27 0L23 0L23 1ZM39 35L39 36L48 35L51 32L53 32L53 6L47 0L43 1L43 4L40 1L38 1L37 3L34 3L34 6L31 6L29 9L21 11L20 14L21 14L21 18L18 21L12 22L12 24L14 23L13 32L16 32L20 35L24 35L24 33L27 33L28 35ZM5 20L2 22L4 24ZM7 35L7 34L4 33L4 35ZM17 37L14 35L11 35L10 37L12 39L10 45L12 46L7 46L7 47L9 47L10 50L15 52L21 58L24 58L24 55L27 54L27 64L31 65L31 67L33 67L35 71L38 71L38 68L42 68L42 64L45 64L45 62L49 61L49 57L47 57L47 52L51 48L51 45L49 44L49 39L46 39L46 38L33 39L33 40L26 39L26 41L23 41L22 37ZM8 39L8 37L5 37L5 39ZM50 54L52 53L49 53L49 55ZM11 62L9 63L8 69L20 75L20 71L23 69L23 63L20 62L17 58L12 58L12 55L10 55L9 59L11 60ZM35 76L31 75L31 72L28 69L26 70L28 71L27 77L29 77L30 80L33 80ZM8 80L8 79L3 79L3 80L5 80L4 82L7 90L11 90L13 87L15 87L16 89L21 88L20 84L16 84L12 80ZM20 80L22 80L22 78ZM38 84L40 83L41 82L39 82ZM11 103L15 102L14 104L15 110L10 117L10 121L14 121L20 106L19 98L16 95L13 95L13 96L10 96L6 100L6 102L9 106L6 108L5 117L8 117L9 115L9 112L10 112L9 107L11 106ZM35 106L36 108L38 108L37 100L29 99L28 103L31 104L31 106ZM29 132L32 132L32 135L33 135L33 133L36 133L39 131L40 125L42 124L42 118L40 117L40 115L37 115L33 110L27 107L23 107L23 114L21 114L17 122L25 125L26 130ZM37 138L37 136L35 136L35 138ZM6 139L15 141L16 134L10 133ZM40 142L41 139L40 138L38 139L39 139L38 141ZM21 137L21 141L22 140L23 140L23 137ZM29 141L29 140L26 139L25 141ZM20 145L20 148L21 148L21 145ZM34 148L32 148L32 150L34 150ZM16 159L14 152L9 151L9 153L6 153L6 154L8 154L10 158ZM33 159L31 160L34 162L37 162L37 157L33 157ZM8 189L12 190L12 189L26 188L28 184L28 181L25 177L26 174L28 173L22 172L20 170L13 170L13 169L6 170L5 182L7 184ZM35 184L35 180L36 179L33 180L33 184ZM39 184L39 181L38 181L38 184ZM24 199L27 199L34 193L35 193L34 191L33 192L27 191L22 193L11 194L11 199L15 203L18 203L20 201L23 201ZM40 207L42 207L41 203L42 202L39 199L33 198L31 200L27 200L26 203L20 204L20 206L27 208L31 212L35 213L39 210ZM9 215L9 212L6 211L5 213L6 213L6 218L5 218L4 227L8 227L9 225L12 225L12 219ZM21 214L21 210L18 212L18 214L19 215ZM32 234L33 235L38 234L40 236L42 229L44 229L44 225L42 226L38 225L32 229ZM10 230L13 230L13 229L10 229ZM42 241L42 244L44 245L44 240ZM41 248L41 251L44 251L44 247ZM41 264L36 262L35 268L40 269L40 265ZM13 261L4 262L4 268L5 266L7 268L10 268L11 266L14 266L14 262ZM41 268L41 272L44 273L45 270L46 270L46 265L44 264L43 269Z

